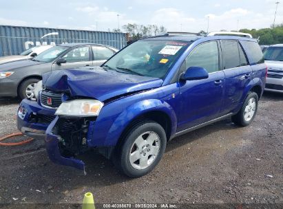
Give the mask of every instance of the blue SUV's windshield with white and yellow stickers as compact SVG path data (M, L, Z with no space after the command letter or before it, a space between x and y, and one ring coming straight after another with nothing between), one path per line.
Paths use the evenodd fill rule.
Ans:
M136 41L110 58L103 67L163 79L190 44L186 41Z

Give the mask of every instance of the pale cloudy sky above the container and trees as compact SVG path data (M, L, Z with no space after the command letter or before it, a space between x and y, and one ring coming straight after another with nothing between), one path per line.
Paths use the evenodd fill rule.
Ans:
M281 0L282 1L282 0ZM0 0L0 25L107 31L127 23L167 31L209 32L269 28L277 0ZM117 15L118 14L118 15ZM283 23L283 1L275 24Z

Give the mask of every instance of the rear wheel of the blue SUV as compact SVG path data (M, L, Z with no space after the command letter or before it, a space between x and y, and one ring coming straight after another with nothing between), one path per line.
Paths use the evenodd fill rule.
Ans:
M239 126L248 126L255 118L257 111L258 94L255 92L249 92L240 111L232 116L232 122Z

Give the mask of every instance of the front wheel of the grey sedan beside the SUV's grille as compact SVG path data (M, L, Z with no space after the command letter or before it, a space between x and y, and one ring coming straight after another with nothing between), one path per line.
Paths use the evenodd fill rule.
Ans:
M40 79L38 78L29 78L21 85L19 86L19 97L23 100L24 98L31 98L32 100L35 100L34 98L34 85L39 82Z

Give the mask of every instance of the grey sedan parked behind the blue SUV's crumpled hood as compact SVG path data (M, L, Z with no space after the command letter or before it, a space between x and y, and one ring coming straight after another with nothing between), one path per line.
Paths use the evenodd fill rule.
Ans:
M0 96L34 99L34 85L42 74L56 69L99 66L118 50L93 43L65 43L45 50L32 60L0 65Z

